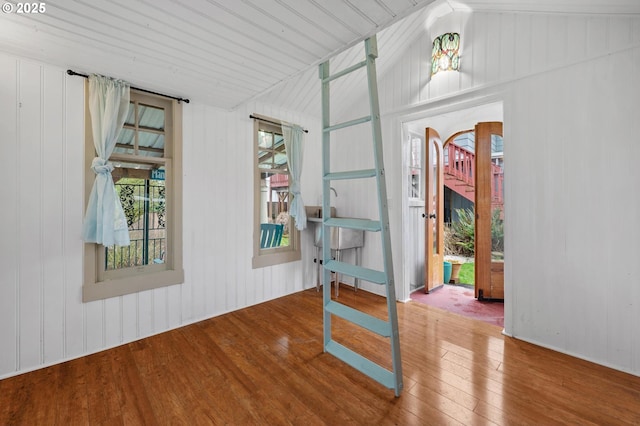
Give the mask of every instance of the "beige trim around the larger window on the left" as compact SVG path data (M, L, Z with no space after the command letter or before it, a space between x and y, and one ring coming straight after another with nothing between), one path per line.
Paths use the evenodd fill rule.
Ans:
M172 134L171 150L165 160L166 175L171 179L165 181L167 198L167 247L170 254L163 264L146 265L138 268L128 268L120 271L109 271L104 281L101 261L104 248L99 244L84 244L84 284L82 286L82 301L107 299L125 294L137 293L144 290L165 287L184 282L182 258L182 105L164 97L148 95L131 91L132 97L153 104L160 100L171 103L172 115L167 120L165 129ZM88 84L85 84L85 99L88 99ZM95 157L91 117L88 102L85 101L85 203L89 199L91 186L95 175L91 170L91 161ZM102 248L101 248L102 247ZM100 259L99 259L100 258Z

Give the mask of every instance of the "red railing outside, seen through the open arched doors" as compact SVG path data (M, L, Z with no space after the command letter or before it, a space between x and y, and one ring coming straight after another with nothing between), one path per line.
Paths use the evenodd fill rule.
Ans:
M444 173L460 182L462 186L475 186L475 154L468 149L449 143L445 148ZM491 201L494 205L504 203L504 172L502 167L491 164L493 178L491 179ZM451 182L450 179L446 179ZM460 193L460 185L452 185L451 189ZM464 189L462 189L464 191ZM463 196L469 198L467 195Z

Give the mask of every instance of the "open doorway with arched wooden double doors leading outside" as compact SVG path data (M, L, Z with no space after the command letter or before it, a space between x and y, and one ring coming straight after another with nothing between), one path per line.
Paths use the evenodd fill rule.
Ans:
M504 299L501 121L502 104L495 103L403 127L409 176L404 268L411 298L467 316L488 315L487 322L498 325L502 303L481 302Z

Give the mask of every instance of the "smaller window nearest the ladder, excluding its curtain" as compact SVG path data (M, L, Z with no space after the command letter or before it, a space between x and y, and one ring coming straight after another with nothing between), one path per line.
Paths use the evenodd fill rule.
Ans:
M254 120L254 268L301 258L300 232L289 215L287 151L278 122Z

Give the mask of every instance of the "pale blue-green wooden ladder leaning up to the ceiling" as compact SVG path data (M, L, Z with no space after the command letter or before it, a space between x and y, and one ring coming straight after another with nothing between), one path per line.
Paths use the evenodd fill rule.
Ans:
M396 309L396 294L393 280L393 262L391 258L391 241L389 235L389 212L387 206L387 189L382 161L382 132L380 128L380 107L378 104L378 87L376 81L375 59L378 48L375 35L364 42L366 58L364 61L344 69L334 75L329 74L329 61L320 64L320 78L322 80L322 284L323 284L323 319L324 319L324 351L341 359L345 363L377 380L386 387L393 389L396 396L402 390L402 363L400 360L400 335L398 333L398 314ZM329 84L331 81L345 76L362 67L367 69L367 84L369 89L370 115L331 125L329 108ZM367 170L353 170L331 172L330 142L331 132L349 126L371 122L374 151L374 168ZM331 181L342 179L375 178L378 196L379 220L332 218L330 209ZM384 270L378 271L349 263L331 259L331 244L329 241L332 227L360 229L368 232L379 232L382 239L382 257ZM387 321L371 316L365 312L353 309L331 300L332 272L362 279L374 284L382 285L386 290ZM336 285L338 283L336 282ZM392 371L365 358L359 353L343 346L331 338L331 318L336 315L363 327L380 336L388 337L391 344Z

